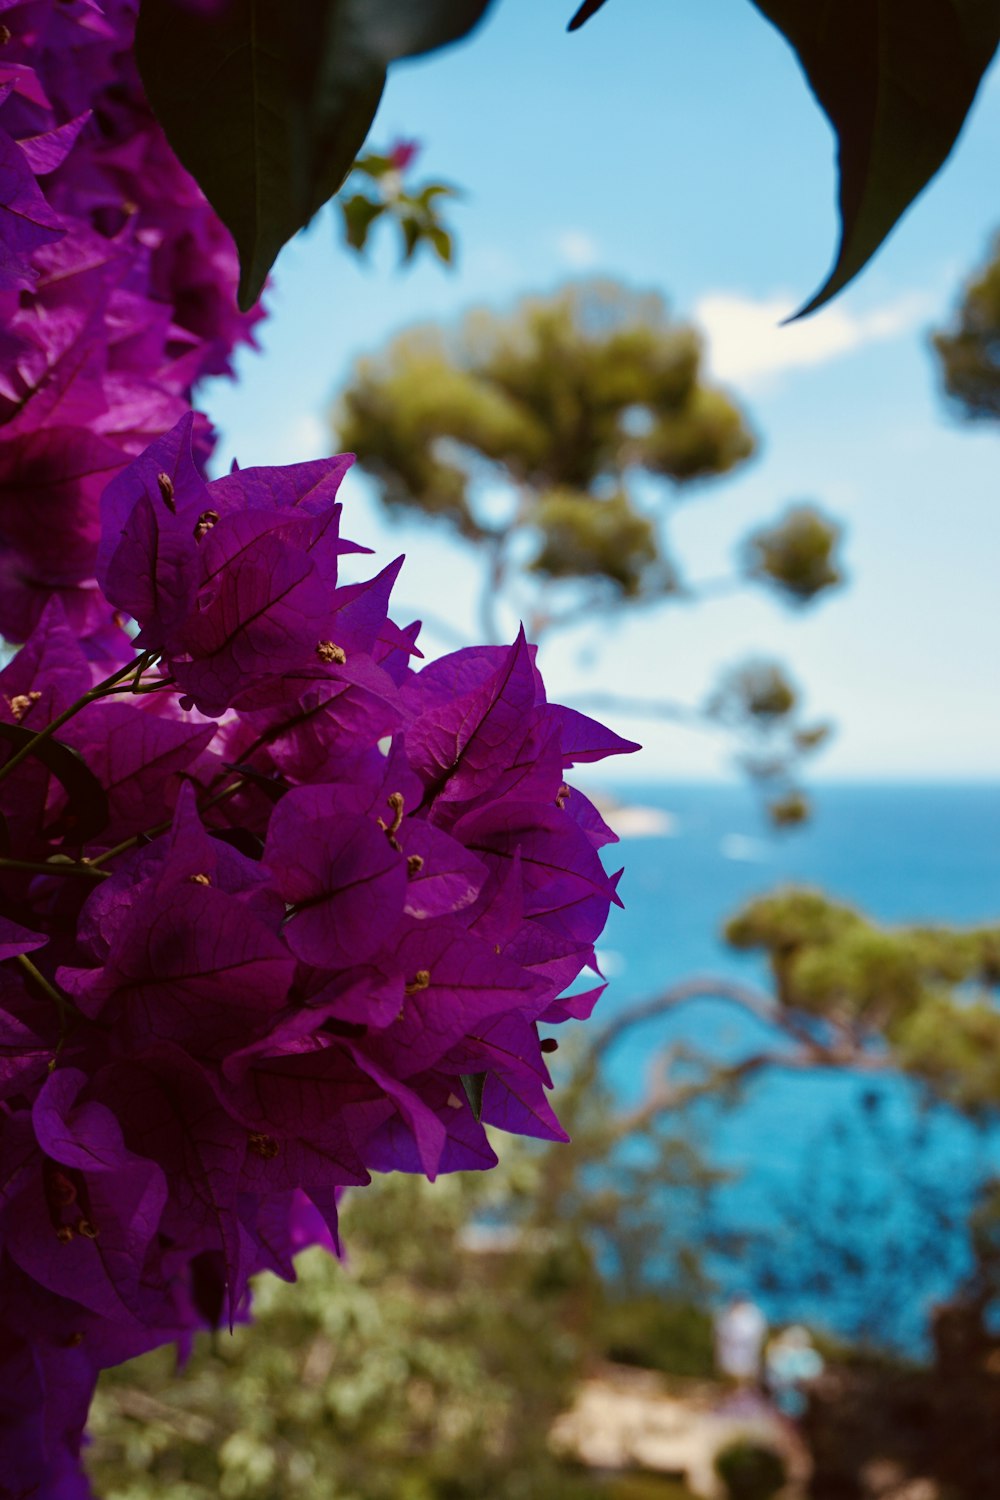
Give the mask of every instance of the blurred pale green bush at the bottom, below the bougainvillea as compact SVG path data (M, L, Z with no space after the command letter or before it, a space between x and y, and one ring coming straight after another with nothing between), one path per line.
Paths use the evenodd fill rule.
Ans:
M105 1500L520 1500L559 1494L549 1425L579 1359L534 1258L462 1248L481 1179L390 1178L349 1198L349 1260L261 1278L256 1326L108 1376L90 1472ZM400 1233L400 1226L406 1232ZM538 1485L538 1490L532 1490Z

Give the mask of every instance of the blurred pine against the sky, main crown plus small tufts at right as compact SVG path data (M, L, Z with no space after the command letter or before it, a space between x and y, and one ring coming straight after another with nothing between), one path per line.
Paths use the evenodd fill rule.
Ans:
M504 634L498 602L538 640L603 610L693 600L747 576L796 603L841 578L840 528L813 506L750 538L742 578L702 588L684 578L664 501L744 464L756 440L706 381L697 332L655 292L588 280L507 315L480 309L451 330L411 328L355 363L333 429L390 510L478 544L493 639ZM640 704L654 717L660 706ZM733 669L687 716L735 732L775 826L808 818L793 776L829 728L804 720L780 666Z

